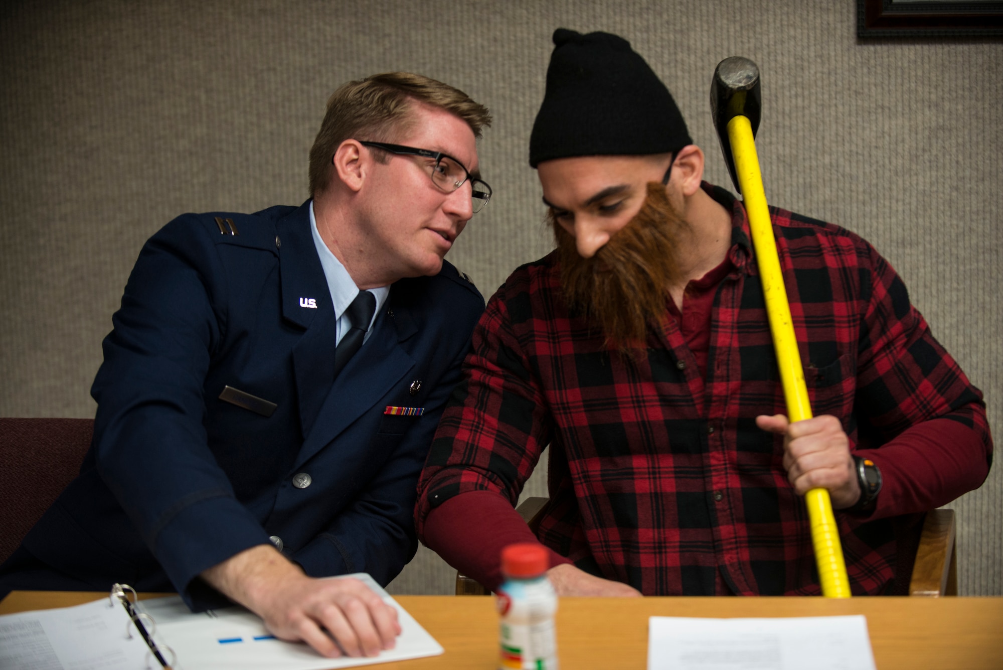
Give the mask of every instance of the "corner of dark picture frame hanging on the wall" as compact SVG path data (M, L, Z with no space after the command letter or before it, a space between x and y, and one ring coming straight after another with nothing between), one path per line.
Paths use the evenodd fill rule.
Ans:
M1003 2L857 0L857 36L1003 38Z

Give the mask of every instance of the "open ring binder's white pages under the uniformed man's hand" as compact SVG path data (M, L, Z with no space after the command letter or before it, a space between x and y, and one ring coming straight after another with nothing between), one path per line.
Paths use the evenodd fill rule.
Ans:
M179 596L139 603L155 624L153 639L175 670L327 670L436 656L442 647L372 577L354 577L397 610L401 634L393 649L373 658L324 658L306 644L272 637L255 614L241 607L192 614ZM0 670L145 670L146 645L128 616L107 598L57 610L0 617ZM168 652L170 648L173 653Z

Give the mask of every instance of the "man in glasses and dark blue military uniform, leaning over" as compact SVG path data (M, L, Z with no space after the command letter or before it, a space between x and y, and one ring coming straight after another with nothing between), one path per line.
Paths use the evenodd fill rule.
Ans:
M349 82L303 206L156 233L104 340L80 475L0 593L128 582L194 610L229 598L330 656L392 646L392 608L315 578L385 585L414 556L415 482L483 311L442 259L490 197L489 122L426 77Z

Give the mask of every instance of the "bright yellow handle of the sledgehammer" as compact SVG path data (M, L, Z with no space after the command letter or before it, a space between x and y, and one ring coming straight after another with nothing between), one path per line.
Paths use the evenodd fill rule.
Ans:
M769 330L776 350L776 363L780 368L780 383L787 403L787 418L791 423L811 418L804 370L797 351L797 338L790 319L790 305L783 286L780 259L776 254L776 240L766 207L766 194L759 173L759 157L752 138L752 126L746 116L735 116L728 121L728 139L735 159L735 173L745 201L745 211L752 231L752 246L766 298ZM815 563L821 593L825 598L850 598L850 580L847 564L843 560L840 530L832 516L832 502L824 488L812 488L804 495L811 524L811 544L814 546Z

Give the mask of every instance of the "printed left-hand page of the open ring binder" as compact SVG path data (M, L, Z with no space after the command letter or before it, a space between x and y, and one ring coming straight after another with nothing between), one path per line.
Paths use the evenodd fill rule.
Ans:
M0 617L0 670L138 670L146 643L109 599ZM129 637L131 632L131 637Z

